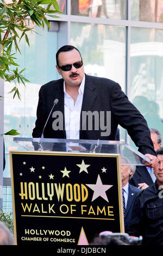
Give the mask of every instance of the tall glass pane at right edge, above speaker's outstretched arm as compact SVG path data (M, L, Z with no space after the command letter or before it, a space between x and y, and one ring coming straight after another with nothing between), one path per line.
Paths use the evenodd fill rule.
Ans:
M163 138L163 31L131 28L130 56L130 100Z

